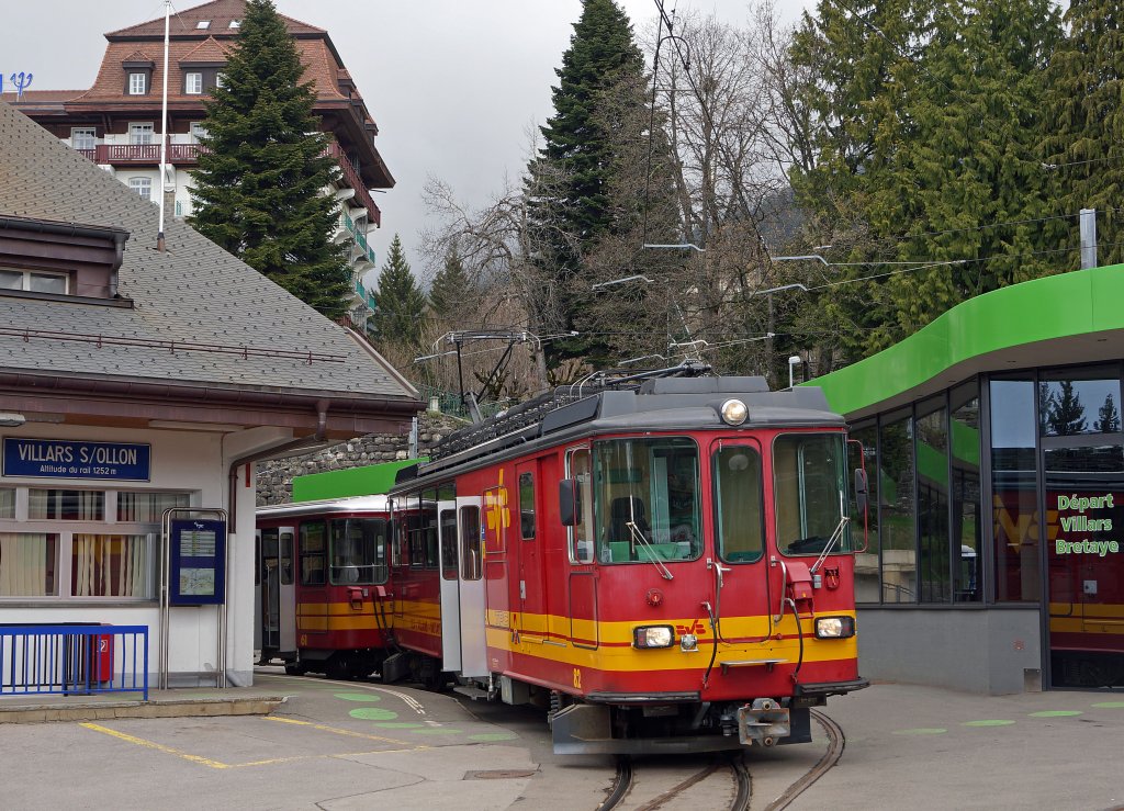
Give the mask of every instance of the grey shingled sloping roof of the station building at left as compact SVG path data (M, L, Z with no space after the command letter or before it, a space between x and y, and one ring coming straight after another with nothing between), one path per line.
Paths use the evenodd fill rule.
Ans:
M160 382L327 391L414 400L389 364L343 327L236 259L0 101L0 216L129 231L119 292L133 309L0 295L0 327L145 341L310 352L339 362L170 352L0 335L0 370Z

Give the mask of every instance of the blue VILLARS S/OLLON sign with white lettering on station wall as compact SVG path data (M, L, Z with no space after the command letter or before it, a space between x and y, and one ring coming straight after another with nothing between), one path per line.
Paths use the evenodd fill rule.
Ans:
M3 475L147 482L152 479L152 446L4 437Z

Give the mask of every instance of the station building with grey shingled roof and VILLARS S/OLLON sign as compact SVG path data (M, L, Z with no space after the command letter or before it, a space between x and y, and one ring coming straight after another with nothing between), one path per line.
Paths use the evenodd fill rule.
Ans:
M158 250L157 221L0 102L0 623L145 626L170 686L248 684L255 462L406 432L422 403L188 226ZM221 604L165 604L169 508L225 514Z

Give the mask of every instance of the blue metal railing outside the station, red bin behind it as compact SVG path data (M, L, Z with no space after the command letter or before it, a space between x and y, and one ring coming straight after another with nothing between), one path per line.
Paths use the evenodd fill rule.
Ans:
M147 626L0 626L0 695L144 693Z

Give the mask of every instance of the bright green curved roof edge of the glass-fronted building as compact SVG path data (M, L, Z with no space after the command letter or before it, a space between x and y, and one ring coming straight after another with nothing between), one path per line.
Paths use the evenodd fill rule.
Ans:
M849 420L979 372L1124 356L1124 265L1035 279L969 299L905 340L806 385Z

